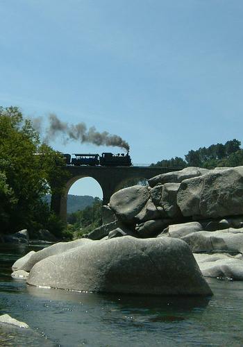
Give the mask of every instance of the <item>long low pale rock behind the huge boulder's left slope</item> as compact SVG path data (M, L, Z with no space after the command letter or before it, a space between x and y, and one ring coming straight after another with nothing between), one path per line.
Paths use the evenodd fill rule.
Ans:
M19 270L24 271L31 271L32 267L37 263L40 262L40 260L49 257L50 255L56 255L63 253L69 249L75 248L75 247L81 247L89 242L92 242L90 239L77 239L76 241L72 242L58 242L58 244L53 244L52 246L49 246L47 248L42 249L41 251L36 252L35 254L31 255L31 257L22 264L22 266L19 266ZM23 258L21 258L22 261Z

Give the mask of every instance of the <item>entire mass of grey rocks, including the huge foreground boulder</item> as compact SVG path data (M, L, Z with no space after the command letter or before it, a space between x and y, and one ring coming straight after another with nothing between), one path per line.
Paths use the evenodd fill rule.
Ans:
M156 176L113 194L103 216L15 270L31 285L135 294L208 295L203 276L243 280L243 167Z

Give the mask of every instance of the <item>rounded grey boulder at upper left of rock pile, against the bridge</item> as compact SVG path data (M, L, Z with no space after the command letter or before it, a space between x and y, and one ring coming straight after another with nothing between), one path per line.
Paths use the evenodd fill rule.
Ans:
M124 188L110 198L110 208L118 219L125 223L134 223L135 216L149 200L149 189L141 185Z

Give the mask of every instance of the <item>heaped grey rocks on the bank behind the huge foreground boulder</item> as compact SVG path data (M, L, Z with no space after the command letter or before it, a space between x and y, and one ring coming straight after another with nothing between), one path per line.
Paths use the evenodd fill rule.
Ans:
M182 239L203 276L243 280L243 167L188 167L162 174L151 178L149 187L115 193L104 209L112 223L88 238Z

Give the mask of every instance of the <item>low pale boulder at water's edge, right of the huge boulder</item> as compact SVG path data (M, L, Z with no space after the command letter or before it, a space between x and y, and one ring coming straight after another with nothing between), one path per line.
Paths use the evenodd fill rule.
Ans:
M242 255L194 253L194 257L205 277L243 280Z

